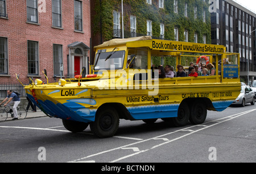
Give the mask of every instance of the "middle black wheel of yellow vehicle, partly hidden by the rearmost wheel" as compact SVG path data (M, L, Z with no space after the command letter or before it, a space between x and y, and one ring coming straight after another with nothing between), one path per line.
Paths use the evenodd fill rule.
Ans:
M189 119L189 107L187 103L182 102L179 106L177 117L170 118L172 124L176 127L185 126Z

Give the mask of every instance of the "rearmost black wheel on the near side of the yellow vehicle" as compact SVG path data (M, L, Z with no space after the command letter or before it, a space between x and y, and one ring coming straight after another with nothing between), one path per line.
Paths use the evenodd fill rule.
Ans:
M202 102L195 102L191 106L189 121L193 125L204 123L207 118L207 106Z

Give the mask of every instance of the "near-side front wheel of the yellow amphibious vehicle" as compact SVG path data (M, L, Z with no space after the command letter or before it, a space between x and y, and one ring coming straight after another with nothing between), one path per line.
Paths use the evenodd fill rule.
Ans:
M90 130L100 138L114 136L119 127L119 116L113 107L103 107L96 113L95 121L90 123Z

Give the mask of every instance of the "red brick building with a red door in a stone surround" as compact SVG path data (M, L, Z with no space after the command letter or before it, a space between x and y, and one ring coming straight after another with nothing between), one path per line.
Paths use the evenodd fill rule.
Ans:
M89 0L0 0L0 82L88 71L90 33Z

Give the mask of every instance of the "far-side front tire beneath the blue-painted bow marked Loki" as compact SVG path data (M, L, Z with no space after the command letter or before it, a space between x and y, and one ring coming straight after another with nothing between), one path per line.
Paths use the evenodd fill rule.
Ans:
M70 121L67 119L63 119L62 122L63 122L65 129L67 129L73 133L82 132L89 125L89 123Z

